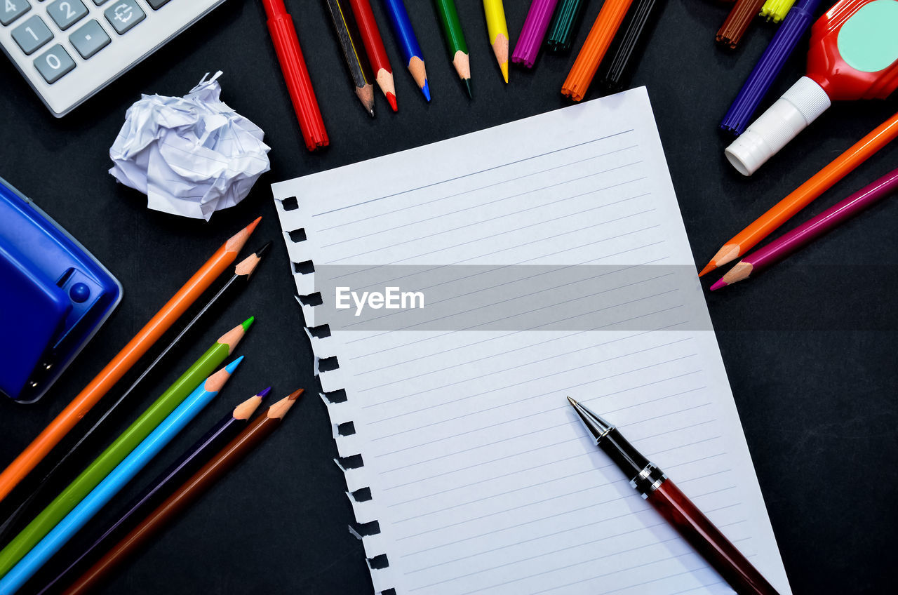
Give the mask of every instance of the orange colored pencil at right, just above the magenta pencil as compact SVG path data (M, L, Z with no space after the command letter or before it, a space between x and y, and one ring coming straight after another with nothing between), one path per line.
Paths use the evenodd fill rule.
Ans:
M888 145L898 137L898 113L870 131L847 151L836 157L822 170L814 173L807 182L798 186L788 196L773 205L761 217L755 219L750 226L734 235L729 242L714 254L711 262L701 270L699 277L706 272L714 271L727 262L735 261L751 250L756 244L770 235L773 230L786 223L799 210L804 209L823 192L828 191L842 178L852 172L859 164L867 161L870 155Z

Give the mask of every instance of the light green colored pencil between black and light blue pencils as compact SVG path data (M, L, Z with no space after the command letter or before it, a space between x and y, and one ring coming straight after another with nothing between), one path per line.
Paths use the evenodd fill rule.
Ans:
M40 514L15 536L9 545L0 552L0 576L8 573L22 557L31 551L50 530L57 526L66 514L72 511L84 496L91 493L110 471L121 463L134 448L140 444L169 413L199 386L206 377L212 374L225 358L231 354L237 343L243 338L252 324L249 318L242 324L222 335L212 344L206 353L193 363L172 386L147 407L144 413L123 431L119 438L110 444L99 457L87 466L53 502L50 502Z

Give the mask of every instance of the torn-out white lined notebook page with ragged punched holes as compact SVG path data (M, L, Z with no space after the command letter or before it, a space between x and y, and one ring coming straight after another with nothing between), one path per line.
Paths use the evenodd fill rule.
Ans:
M789 592L645 88L273 191L375 591L732 592L570 395Z

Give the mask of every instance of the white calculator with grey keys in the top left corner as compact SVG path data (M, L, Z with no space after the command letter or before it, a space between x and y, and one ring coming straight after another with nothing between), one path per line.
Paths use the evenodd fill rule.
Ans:
M0 0L0 47L57 118L225 0Z

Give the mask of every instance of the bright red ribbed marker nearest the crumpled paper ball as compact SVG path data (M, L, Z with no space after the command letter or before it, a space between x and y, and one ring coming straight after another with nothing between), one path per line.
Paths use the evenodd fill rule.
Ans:
M321 119L321 110L318 109L318 100L315 99L312 79L309 78L309 71L305 67L303 50L299 47L293 19L286 12L284 0L262 0L262 4L269 18L269 32L275 44L277 61L280 62L281 72L284 73L284 81L293 102L296 118L299 120L299 128L303 130L305 147L310 151L327 147L330 145L328 131L324 129L324 120Z

